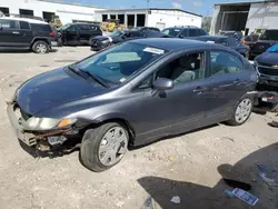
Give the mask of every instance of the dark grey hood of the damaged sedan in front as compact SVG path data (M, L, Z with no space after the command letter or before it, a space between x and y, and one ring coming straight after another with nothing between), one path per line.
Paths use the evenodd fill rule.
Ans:
M62 103L99 94L107 88L91 79L85 79L68 68L39 74L24 82L17 92L16 101L28 115L52 109Z

